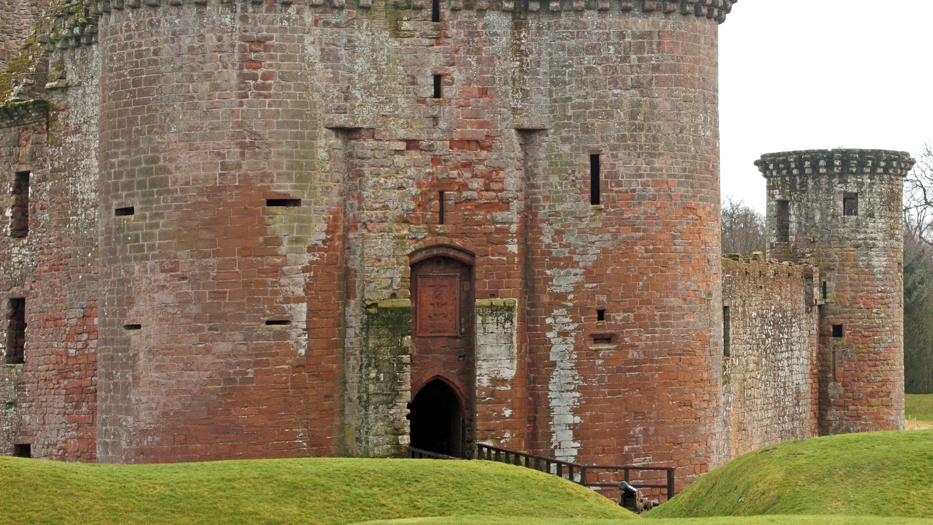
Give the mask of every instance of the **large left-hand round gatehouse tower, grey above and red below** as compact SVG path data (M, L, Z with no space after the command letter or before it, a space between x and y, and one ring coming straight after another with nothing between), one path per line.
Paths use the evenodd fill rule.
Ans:
M134 7L97 35L99 460L333 453L332 407L314 397L328 384L307 357L323 138L312 21L296 7Z

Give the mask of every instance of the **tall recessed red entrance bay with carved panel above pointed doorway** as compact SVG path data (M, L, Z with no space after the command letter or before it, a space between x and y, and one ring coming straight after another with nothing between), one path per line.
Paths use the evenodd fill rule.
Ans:
M471 257L444 248L412 260L411 446L462 457L473 435Z

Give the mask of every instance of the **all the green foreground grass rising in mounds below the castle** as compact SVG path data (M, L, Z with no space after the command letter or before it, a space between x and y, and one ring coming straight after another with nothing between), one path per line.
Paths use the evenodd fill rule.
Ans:
M643 517L557 476L491 461L3 457L0 487L0 524L17 525L933 525L933 431L767 447Z

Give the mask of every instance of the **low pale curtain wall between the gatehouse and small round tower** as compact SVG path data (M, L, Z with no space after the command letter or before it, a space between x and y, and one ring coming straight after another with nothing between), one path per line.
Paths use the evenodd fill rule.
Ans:
M760 254L722 262L729 350L722 390L730 458L817 432L819 276ZM808 290L809 288L809 290Z

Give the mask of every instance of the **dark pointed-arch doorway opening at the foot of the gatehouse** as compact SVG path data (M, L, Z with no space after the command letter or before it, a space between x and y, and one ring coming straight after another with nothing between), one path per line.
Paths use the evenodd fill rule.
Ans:
M463 457L463 413L457 394L434 379L409 404L411 447L455 458Z

